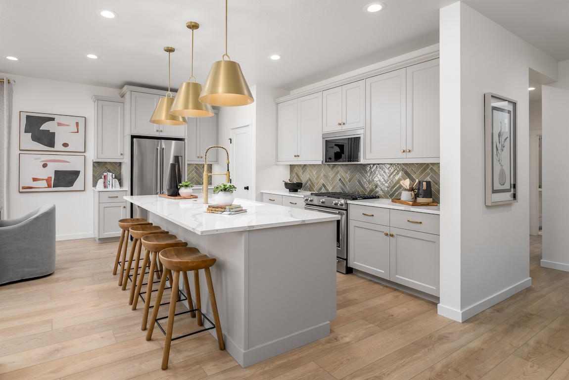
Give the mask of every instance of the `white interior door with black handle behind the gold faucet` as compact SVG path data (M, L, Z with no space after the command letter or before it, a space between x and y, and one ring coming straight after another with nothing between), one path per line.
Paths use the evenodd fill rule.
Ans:
M253 200L253 141L250 126L231 130L231 183L236 198Z

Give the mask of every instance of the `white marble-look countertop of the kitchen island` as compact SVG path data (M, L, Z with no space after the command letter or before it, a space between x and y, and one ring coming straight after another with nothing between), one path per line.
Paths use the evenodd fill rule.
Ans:
M247 212L235 215L207 213L201 196L197 199L167 199L157 195L125 196L141 206L198 235L211 235L262 228L338 220L339 216L310 210L236 199Z

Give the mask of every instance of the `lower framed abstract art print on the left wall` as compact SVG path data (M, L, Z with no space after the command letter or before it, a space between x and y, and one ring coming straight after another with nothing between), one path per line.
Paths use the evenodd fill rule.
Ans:
M85 191L85 156L20 153L18 191Z

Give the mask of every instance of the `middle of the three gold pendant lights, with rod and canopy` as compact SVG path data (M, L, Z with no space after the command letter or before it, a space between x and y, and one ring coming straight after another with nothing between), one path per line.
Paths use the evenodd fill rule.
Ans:
M200 27L200 24L188 21L185 26L192 30L192 73L187 82L183 82L178 89L176 100L172 104L170 113L172 115L186 117L209 117L213 116L212 106L198 100L201 93L201 84L197 83L193 76L193 31ZM193 82L190 80L193 78Z

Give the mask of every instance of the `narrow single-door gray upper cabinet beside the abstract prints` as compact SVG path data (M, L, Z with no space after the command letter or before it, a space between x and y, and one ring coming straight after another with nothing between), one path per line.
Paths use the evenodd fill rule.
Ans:
M123 161L125 130L125 100L106 96L93 96L94 112L94 160Z

